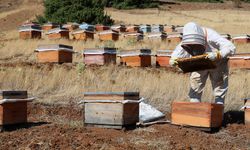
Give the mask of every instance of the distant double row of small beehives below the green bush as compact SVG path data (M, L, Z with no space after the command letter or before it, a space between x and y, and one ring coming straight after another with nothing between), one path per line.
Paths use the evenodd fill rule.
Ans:
M81 27L81 28L79 28ZM149 28L150 30L144 30ZM151 31L153 28L153 32ZM110 30L111 29L111 30ZM96 30L97 32L94 32ZM143 39L160 39L168 42L180 42L182 39L182 27L181 26L168 26L168 25L115 25L111 27L103 25L88 25L76 26L74 24L64 25L58 27L54 24L45 24L43 27L37 24L24 24L19 28L19 36L21 39L41 38L42 31L46 32L49 39L70 39L70 33L72 39L75 40L88 40L94 39L95 35L98 35L101 41L117 41L121 38L133 38L136 40ZM234 43L249 43L249 35L236 35L231 37L229 34L222 34L221 36L232 40Z

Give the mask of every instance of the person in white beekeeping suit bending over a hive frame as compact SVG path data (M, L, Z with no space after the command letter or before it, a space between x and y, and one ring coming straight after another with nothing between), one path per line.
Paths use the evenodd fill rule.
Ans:
M210 28L200 27L194 22L183 28L182 42L175 48L169 61L171 66L178 66L177 58L186 58L207 53L207 58L215 61L215 69L195 71L190 76L190 102L201 102L201 96L209 76L215 103L224 104L228 90L227 57L234 54L235 46Z

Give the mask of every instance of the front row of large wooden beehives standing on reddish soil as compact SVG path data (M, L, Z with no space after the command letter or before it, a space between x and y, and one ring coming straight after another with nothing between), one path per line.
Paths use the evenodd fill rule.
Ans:
M27 123L27 103L33 100L28 98L27 91L0 91L0 131L10 125ZM164 117L155 118L148 114L143 119L142 116L147 114L143 111L150 110L142 103L139 92L87 92L79 104L84 104L82 118L87 126L122 129ZM250 100L244 101L243 108L245 124L250 124ZM173 102L171 124L206 130L220 128L223 111L221 104Z

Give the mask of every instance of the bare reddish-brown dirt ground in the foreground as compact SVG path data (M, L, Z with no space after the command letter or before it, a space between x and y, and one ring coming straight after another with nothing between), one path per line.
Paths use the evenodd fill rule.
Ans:
M250 126L225 116L233 119L214 133L170 124L114 130L84 127L75 104L36 103L29 105L29 124L0 133L0 149L249 149Z

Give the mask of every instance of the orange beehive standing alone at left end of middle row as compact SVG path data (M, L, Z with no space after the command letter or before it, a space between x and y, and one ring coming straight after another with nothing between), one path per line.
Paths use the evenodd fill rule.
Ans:
M73 47L62 44L39 45L35 50L39 63L72 63Z

